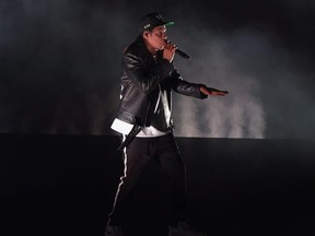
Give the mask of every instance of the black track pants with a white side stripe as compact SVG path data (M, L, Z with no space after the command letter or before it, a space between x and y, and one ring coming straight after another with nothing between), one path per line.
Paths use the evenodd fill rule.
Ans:
M154 158L161 167L170 190L170 225L176 224L184 215L186 205L186 168L173 133L156 138L135 138L124 149L124 173L117 188L109 224L120 225L128 211L128 199L149 161ZM124 221L122 221L124 222Z

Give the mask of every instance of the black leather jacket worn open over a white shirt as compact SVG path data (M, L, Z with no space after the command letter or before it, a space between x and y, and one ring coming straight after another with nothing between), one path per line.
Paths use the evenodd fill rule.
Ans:
M147 49L143 38L138 38L124 51L120 105L116 118L131 125L148 127L159 97L159 85L166 91L171 107L171 90L187 96L206 98L202 84L184 81L173 63L156 55L156 62Z

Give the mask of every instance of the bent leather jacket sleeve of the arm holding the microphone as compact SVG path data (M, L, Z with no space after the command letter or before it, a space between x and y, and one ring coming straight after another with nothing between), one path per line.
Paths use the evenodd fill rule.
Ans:
M154 70L150 70L149 67L139 56L124 54L122 68L125 72L136 86L145 94L151 93L159 83L174 71L174 66L165 59L160 60Z

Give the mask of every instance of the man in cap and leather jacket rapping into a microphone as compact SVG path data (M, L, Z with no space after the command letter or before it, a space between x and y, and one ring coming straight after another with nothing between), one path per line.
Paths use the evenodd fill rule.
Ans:
M119 150L124 153L124 174L108 216L105 232L108 236L124 234L120 226L128 221L124 219L128 215L128 198L152 158L172 191L168 228L178 226L185 214L186 181L185 164L173 134L171 91L201 99L228 94L183 80L173 59L176 52L185 55L166 35L166 26L172 24L156 12L147 14L140 21L140 35L124 51L120 104L112 125L112 129L122 134Z

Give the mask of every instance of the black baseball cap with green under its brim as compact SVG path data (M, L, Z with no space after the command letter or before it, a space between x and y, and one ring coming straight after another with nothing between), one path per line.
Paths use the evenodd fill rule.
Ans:
M173 21L164 21L160 13L152 12L152 13L144 15L141 19L139 31L140 33L142 33L143 31L151 31L154 27L160 26L160 25L168 26L173 24L174 24Z

